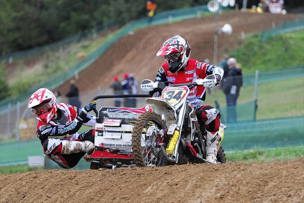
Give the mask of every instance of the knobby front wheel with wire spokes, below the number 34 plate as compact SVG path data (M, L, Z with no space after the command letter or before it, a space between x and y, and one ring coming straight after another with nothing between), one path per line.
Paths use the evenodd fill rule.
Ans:
M166 146L169 138L164 133L166 124L154 112L142 113L133 126L132 151L136 166L162 165L162 152L160 144Z

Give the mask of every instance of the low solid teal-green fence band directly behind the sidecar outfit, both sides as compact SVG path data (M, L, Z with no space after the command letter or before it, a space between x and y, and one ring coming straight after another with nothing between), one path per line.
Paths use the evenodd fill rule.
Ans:
M259 120L256 122L226 123L222 147L225 151L243 151L288 146L304 146L304 118L283 118ZM44 156L38 138L10 143L0 143L0 166L21 170L18 164L27 163L28 156ZM47 159L48 160L48 159ZM45 162L45 168L60 167L52 162ZM35 166L39 166L36 163ZM26 166L29 167L29 166ZM33 167L33 166L31 166ZM74 170L89 169L90 163L81 160Z

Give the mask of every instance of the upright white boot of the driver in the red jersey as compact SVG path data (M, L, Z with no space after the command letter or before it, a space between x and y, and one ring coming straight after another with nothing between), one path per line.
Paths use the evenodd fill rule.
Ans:
M218 131L216 132L207 131L206 160L212 163L217 163L216 154L217 154L218 138L219 138Z

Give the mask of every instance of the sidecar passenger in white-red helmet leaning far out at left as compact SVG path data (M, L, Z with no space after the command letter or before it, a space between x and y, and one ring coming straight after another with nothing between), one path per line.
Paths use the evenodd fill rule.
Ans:
M31 95L28 108L39 120L36 136L45 155L59 166L74 167L86 153L93 152L94 129L81 134L77 131L83 124L95 126L95 118L88 112L96 108L96 100L81 110L58 104L52 91L41 88Z

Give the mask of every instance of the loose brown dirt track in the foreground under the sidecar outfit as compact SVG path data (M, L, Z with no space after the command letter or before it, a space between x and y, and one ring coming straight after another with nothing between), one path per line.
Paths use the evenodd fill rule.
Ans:
M304 159L0 176L6 202L303 202Z

